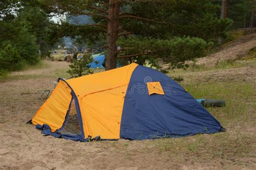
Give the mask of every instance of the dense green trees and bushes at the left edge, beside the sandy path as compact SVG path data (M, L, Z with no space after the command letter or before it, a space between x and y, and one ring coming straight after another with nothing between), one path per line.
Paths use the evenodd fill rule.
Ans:
M0 3L0 65L1 70L19 70L39 62L38 51L50 54L49 18L38 1L3 1Z

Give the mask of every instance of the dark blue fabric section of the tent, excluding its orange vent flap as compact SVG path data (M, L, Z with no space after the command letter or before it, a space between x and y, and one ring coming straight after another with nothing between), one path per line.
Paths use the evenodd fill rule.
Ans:
M165 95L149 95L147 82L160 82ZM126 91L120 138L184 137L221 131L221 125L186 90L157 70L138 66Z

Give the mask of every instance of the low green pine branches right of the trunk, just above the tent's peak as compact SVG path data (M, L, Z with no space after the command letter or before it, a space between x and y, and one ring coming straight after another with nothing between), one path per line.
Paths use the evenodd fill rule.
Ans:
M160 61L171 63L172 68L181 68L186 66L186 60L200 58L206 55L206 49L211 43L194 37L174 37L172 39L146 39L144 37L136 37L131 39L119 39L118 45L128 47L119 53L118 62L127 65L136 62L149 65L161 69ZM143 55L126 58L136 52ZM164 71L164 70L163 70Z

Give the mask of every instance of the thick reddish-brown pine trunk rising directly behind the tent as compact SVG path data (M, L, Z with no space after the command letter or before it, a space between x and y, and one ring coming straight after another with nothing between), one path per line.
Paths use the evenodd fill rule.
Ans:
M120 3L115 0L109 1L109 20L107 22L107 51L105 70L116 68L117 66L117 39L119 27Z

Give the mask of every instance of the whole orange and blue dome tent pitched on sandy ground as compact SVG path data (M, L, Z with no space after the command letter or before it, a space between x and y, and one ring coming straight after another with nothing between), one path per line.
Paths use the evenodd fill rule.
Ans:
M224 130L176 81L136 63L59 78L31 123L44 134L76 141L185 137Z

